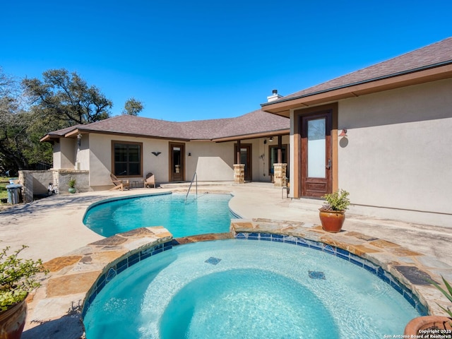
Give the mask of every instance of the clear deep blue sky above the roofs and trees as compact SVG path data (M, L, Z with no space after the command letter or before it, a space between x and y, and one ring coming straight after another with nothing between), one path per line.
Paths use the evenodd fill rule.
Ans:
M0 66L76 71L141 117L238 117L282 95L452 36L452 2L4 1Z

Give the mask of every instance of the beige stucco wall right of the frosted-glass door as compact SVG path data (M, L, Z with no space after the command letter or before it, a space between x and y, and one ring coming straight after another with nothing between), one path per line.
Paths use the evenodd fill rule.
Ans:
M447 79L338 103L347 138L338 141L337 179L350 213L451 227L451 93Z

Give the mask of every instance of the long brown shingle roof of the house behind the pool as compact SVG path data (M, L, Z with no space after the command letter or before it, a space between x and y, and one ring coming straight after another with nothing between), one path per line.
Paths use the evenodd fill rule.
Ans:
M237 118L165 121L131 115L119 115L92 124L77 125L48 133L41 141L76 137L78 133L105 133L179 141L229 141L238 136L251 138L261 134L289 133L290 120L260 109Z

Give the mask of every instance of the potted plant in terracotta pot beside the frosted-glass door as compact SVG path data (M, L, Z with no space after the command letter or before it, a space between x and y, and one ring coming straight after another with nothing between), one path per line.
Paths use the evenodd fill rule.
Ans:
M350 205L349 194L344 189L340 189L323 196L326 203L319 208L319 217L323 230L333 233L342 230L342 225L345 220L345 210Z

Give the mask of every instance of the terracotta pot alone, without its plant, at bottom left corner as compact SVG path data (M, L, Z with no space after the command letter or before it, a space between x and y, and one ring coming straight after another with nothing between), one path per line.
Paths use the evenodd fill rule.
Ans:
M6 311L0 312L0 338L20 339L25 318L27 317L27 302L19 302L11 306Z

